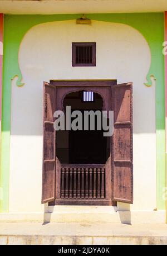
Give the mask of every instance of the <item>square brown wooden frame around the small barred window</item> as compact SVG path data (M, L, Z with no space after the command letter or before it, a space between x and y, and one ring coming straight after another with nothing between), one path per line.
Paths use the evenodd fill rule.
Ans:
M92 63L76 63L76 46L92 46ZM72 67L96 67L96 42L72 42Z

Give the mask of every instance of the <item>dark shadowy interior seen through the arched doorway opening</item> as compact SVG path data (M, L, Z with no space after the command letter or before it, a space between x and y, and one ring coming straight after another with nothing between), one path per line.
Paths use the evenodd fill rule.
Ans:
M82 113L84 128L84 111L102 111L103 99L94 92L94 101L83 100L84 91L68 93L63 101L63 108L71 106L71 112L79 110ZM65 118L66 119L66 118ZM75 118L71 118L71 122ZM90 119L89 119L90 121ZM97 130L95 115L95 130L57 131L56 153L61 163L69 164L101 164L110 157L110 137L103 136L103 130Z

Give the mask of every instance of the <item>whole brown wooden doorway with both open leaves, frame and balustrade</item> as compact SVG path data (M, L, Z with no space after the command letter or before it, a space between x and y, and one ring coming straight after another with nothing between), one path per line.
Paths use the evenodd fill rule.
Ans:
M114 110L114 135L105 163L61 163L56 157L53 113L63 110L67 93L93 91ZM80 143L80 141L78 141ZM82 145L81 145L82 146ZM132 84L113 80L52 80L44 84L42 203L50 205L115 205L132 203Z

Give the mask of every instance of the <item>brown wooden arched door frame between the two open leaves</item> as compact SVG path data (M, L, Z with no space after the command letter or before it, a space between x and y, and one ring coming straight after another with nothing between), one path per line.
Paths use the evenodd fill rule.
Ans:
M110 79L104 79L104 80L50 80L50 84L52 86L56 87L56 110L63 110L63 99L66 97L68 93L81 91L84 89L88 89L89 91L94 91L95 93L99 93L104 101L104 107L103 110L112 110L112 104L111 104L111 87L116 85L116 80L110 80ZM59 89L61 89L60 95L58 94ZM57 178L55 178L56 182L56 191L55 194L58 193L58 199L56 199L53 202L50 202L49 205L112 205L116 206L116 202L112 201L112 168L111 168L111 159L112 159L112 138L110 139L110 157L105 163L106 169L111 169L111 173L109 175L109 179L107 179L107 186L109 188L109 191L107 191L107 198L110 198L110 200L107 200L106 198L104 200L70 200L69 198L67 200L60 198L60 182L56 182L56 180L61 181L61 173L57 172ZM96 165L95 168L100 168L100 165L102 168L104 168L104 164L61 164L58 158L56 158L56 169L59 168L86 168L88 165L91 165L91 168L93 165ZM97 167L98 165L98 167ZM55 170L56 172L56 170ZM108 170L109 173L109 170ZM106 184L106 183L105 183ZM111 195L111 196L109 196Z

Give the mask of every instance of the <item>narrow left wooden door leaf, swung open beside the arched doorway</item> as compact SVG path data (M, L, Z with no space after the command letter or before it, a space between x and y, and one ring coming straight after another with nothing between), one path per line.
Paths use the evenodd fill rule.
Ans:
M56 132L53 127L55 111L56 87L44 82L42 203L55 200Z

